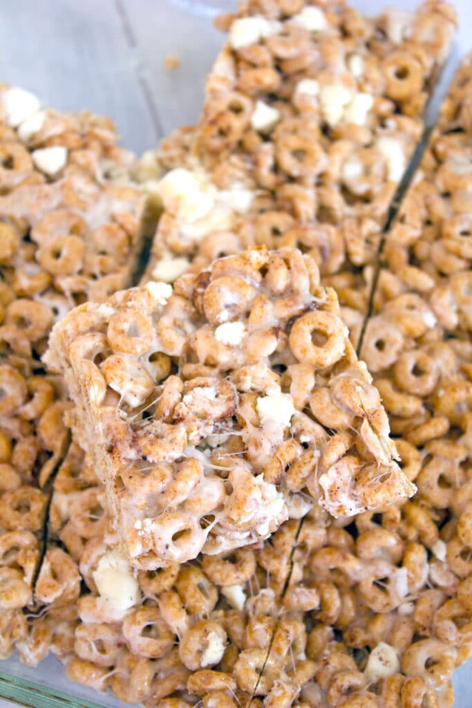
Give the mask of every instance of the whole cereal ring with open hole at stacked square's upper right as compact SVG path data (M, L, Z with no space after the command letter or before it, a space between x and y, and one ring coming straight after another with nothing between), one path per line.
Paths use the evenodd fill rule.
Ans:
M289 345L299 362L323 369L344 355L346 336L346 327L338 316L318 310L295 321Z

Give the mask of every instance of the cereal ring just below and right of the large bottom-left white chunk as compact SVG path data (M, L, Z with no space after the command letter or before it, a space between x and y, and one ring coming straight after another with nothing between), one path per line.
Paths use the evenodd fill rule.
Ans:
M130 612L123 620L123 636L134 656L151 659L166 656L175 642L159 607L138 607Z

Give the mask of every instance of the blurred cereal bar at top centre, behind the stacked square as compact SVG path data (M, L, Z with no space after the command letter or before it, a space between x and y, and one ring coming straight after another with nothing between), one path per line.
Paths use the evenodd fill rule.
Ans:
M367 292L357 270L376 260L454 23L435 0L376 18L343 2L244 3L223 23L196 130L163 146L148 278L263 243L313 254L322 275L354 270Z

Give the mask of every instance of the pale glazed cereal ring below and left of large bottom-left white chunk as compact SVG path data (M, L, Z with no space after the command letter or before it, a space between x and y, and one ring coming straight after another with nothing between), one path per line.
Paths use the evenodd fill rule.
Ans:
M79 624L74 649L85 661L97 666L113 666L122 653L124 640L119 627L110 624Z

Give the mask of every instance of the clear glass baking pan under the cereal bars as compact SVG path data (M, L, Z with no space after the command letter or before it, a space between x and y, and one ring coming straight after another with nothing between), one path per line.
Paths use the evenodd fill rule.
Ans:
M374 0L354 0L379 12ZM391 4L411 9L412 0ZM138 154L197 120L205 76L222 42L212 18L236 0L4 0L0 81L23 86L54 108L110 115ZM456 57L470 50L471 0L456 0ZM165 59L178 58L167 69ZM38 62L37 57L41 57ZM451 69L449 75L451 74ZM454 674L457 708L472 705L472 661ZM118 708L110 695L69 681L54 657L37 668L0 661L0 708Z

